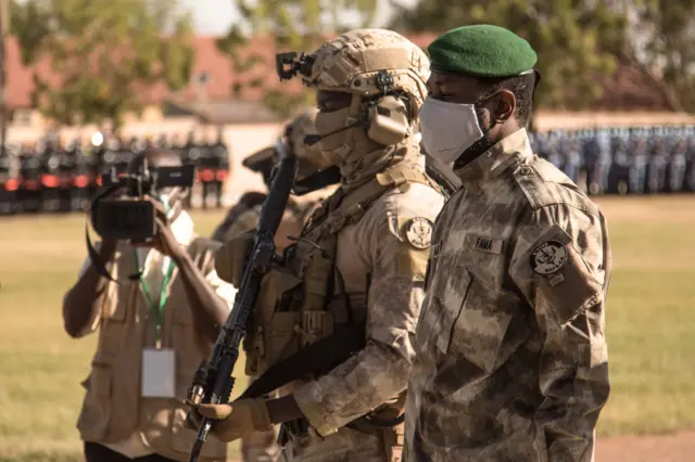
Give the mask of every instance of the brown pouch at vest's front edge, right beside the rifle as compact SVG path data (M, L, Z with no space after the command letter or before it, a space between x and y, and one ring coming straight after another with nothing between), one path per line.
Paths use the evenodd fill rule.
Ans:
M263 278L244 341L247 375L258 376L299 349L300 313L290 309L301 283L282 267Z

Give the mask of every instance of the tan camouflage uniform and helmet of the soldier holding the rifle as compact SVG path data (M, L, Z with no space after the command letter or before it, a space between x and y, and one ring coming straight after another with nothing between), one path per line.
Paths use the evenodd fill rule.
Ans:
M274 359L277 362L287 356L287 348L268 343L274 341L274 332L277 336L289 332L291 337L282 346L299 342L302 348L329 336L341 322L339 307L350 307L354 322L364 325L366 344L332 370L283 388L283 393L294 395L305 415L303 423L287 426L290 440L286 455L292 461L391 462L400 460L402 425L380 428L369 425L364 416L374 411L380 419L393 419L402 412L414 354L410 334L425 296L431 223L444 196L425 174L425 158L415 136L417 111L401 118L403 113L394 97L378 97L382 90L375 87L375 77L382 70L381 77L392 78L401 98L409 99L410 107L417 110L427 95L429 63L415 44L381 29L353 30L312 56L315 62L311 75L303 75L306 84L319 90L352 93L349 106L319 112L316 119L319 134L325 136L321 153L339 166L342 182L312 216L300 242L290 247L286 266L306 281L307 301L298 310L298 319L303 323L325 313L321 319L331 321L319 323L319 332L307 332L302 324L293 334L287 325L269 324L280 322L276 315L293 317L291 310L270 307L271 313L264 319L267 307L256 307L252 325L269 334L250 333L247 355L265 361L267 368ZM364 98L370 97L378 97L376 105L390 104L391 108L366 115ZM388 120L375 120L381 116ZM370 128L353 126L339 134L327 134L359 118L370 120ZM388 138L384 131L393 127L403 128L399 139L392 143L375 141ZM313 271L323 258L332 262L309 275L306 271ZM333 281L333 274L340 275L336 275L340 283ZM273 279L273 272L267 279ZM317 282L320 279L327 285ZM267 282L264 287L279 285ZM324 293L323 287L330 287L329 292ZM286 299L286 295L274 295L273 299ZM317 299L320 305L309 308L307 304ZM262 374L264 365L251 369Z

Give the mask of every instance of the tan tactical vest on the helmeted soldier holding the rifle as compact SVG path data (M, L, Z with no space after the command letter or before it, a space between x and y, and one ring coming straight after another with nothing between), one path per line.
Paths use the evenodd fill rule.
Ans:
M270 365L333 333L337 320L331 304L339 305L341 300L332 297L342 292L334 279L338 233L359 221L381 195L412 182L439 191L438 184L420 169L396 164L349 195L339 191L320 207L313 207L302 239L293 246L286 265L273 267L261 283L244 337L247 375L260 376ZM354 322L364 323L364 308L354 308L363 311L353 313Z

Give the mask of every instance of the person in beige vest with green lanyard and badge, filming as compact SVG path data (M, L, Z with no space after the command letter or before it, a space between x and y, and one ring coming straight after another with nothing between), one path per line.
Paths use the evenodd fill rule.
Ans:
M146 163L147 162L147 163ZM180 166L166 150L137 155L129 175L143 167ZM74 338L99 328L87 394L77 422L87 462L187 461L194 435L181 431L190 380L210 354L227 318L235 288L217 278L218 246L193 232L181 188L155 190L156 235L143 244L103 240L106 269L89 259L65 294L65 331ZM137 274L141 273L139 279ZM226 446L205 445L201 460L226 460Z

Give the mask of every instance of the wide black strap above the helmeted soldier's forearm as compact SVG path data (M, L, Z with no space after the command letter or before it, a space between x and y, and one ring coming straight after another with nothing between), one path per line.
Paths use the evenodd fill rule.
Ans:
M257 398L307 374L328 372L364 346L364 323L341 325L332 335L273 364L238 399Z

